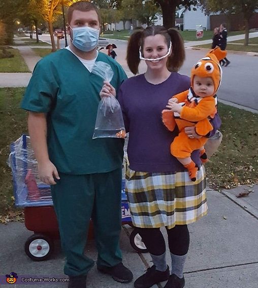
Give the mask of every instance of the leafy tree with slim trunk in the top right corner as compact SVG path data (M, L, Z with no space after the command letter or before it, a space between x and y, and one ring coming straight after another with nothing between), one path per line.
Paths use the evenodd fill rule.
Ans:
M240 14L245 23L245 41L247 46L249 42L249 21L255 10L258 9L257 0L200 0L202 9L206 14L210 12L220 12L225 15Z

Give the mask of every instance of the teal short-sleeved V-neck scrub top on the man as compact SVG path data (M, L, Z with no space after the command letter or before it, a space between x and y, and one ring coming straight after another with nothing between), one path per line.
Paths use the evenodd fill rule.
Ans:
M111 66L111 84L118 92L127 78L122 67L101 52L96 61ZM123 139L92 139L103 81L67 49L44 57L34 69L21 107L47 114L49 158L60 172L81 175L121 167Z

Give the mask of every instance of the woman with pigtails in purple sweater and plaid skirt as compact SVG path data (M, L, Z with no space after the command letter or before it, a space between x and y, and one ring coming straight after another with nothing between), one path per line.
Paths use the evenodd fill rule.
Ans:
M137 74L140 60L147 65L146 73L125 80L118 92L125 129L130 132L125 191L133 225L153 261L153 266L134 282L136 288L165 280L165 288L184 286L183 267L189 247L187 224L207 213L205 170L199 151L191 154L200 166L197 180L192 182L187 170L170 154L178 129L170 132L162 122L162 110L169 99L190 87L189 77L177 73L184 59L182 37L173 28L149 26L133 33L128 41L126 60L130 70ZM211 123L214 129L207 136L212 136L220 125L217 114ZM185 132L190 138L199 137L195 127L186 127ZM160 232L163 226L168 234L171 274Z

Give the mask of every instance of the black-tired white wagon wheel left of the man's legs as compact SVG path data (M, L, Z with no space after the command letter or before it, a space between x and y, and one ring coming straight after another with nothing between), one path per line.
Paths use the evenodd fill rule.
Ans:
M44 261L52 254L54 242L44 234L34 234L27 239L24 249L33 261Z

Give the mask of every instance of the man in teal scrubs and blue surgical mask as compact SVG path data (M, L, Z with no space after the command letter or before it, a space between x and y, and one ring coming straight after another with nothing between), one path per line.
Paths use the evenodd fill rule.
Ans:
M92 139L103 79L91 69L96 61L114 72L111 85L126 79L121 66L98 52L100 15L88 1L68 11L71 44L35 67L21 107L28 110L28 130L41 180L51 185L70 288L86 287L94 261L84 255L90 218L98 249L98 270L118 282L133 274L122 264L121 166L123 140Z

